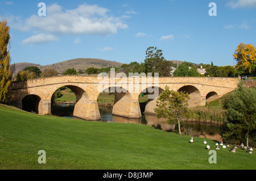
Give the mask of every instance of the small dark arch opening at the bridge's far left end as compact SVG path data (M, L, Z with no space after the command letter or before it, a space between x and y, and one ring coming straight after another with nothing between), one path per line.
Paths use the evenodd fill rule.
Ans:
M28 94L22 98L22 110L40 114L42 99L35 94Z

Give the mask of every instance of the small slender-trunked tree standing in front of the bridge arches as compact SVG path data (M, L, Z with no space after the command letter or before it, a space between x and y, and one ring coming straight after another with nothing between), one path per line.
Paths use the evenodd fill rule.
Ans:
M166 86L156 102L155 113L158 118L167 118L169 124L178 124L179 134L181 134L180 122L193 115L188 108L188 100L189 95L185 92L176 92Z

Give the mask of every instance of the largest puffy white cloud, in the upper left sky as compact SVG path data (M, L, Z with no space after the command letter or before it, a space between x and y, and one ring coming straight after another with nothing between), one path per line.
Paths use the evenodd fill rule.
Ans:
M13 18L13 26L22 31L41 31L57 35L101 35L117 33L118 28L128 28L122 17L107 14L108 9L97 5L80 5L77 9L64 10L54 4L47 7L44 17L32 15L21 22Z

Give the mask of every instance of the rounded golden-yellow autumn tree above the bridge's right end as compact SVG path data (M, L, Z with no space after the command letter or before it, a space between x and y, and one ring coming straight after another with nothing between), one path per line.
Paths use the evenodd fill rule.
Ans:
M256 50L251 44L240 43L235 50L234 59L237 61L237 70L255 75Z

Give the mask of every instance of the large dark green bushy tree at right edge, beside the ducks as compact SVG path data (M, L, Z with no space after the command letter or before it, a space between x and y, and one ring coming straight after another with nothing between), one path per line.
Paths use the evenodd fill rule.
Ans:
M256 89L243 86L240 82L238 88L224 100L227 111L227 120L224 125L222 137L225 141L239 144L246 142L255 146L256 133Z

